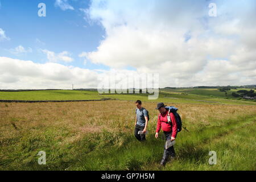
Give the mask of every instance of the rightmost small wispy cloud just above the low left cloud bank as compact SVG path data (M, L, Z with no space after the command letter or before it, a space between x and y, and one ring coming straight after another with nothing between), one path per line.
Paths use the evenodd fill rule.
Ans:
M51 62L64 61L69 63L73 61L73 58L70 57L71 54L68 51L63 51L60 53L48 51L47 49L41 49L41 51L47 55L47 59Z

